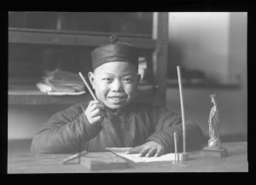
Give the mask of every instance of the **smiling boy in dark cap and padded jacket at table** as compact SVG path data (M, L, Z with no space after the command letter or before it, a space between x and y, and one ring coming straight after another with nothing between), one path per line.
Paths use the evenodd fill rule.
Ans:
M104 151L106 147L132 147L128 153L160 156L182 152L182 119L165 107L137 103L137 49L127 43L110 43L91 52L90 84L97 101L83 102L55 113L32 140L32 153ZM186 122L188 150L203 141L201 129Z

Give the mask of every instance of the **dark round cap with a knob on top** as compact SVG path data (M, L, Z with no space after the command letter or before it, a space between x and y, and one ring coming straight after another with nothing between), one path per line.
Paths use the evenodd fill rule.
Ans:
M118 40L116 35L112 35L109 43L91 51L92 70L112 61L126 61L138 66L137 48L129 43L120 43Z

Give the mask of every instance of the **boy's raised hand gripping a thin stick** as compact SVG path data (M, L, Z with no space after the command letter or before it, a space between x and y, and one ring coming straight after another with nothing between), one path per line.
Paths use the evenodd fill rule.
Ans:
M97 124L102 122L105 117L105 113L103 111L104 108L105 105L102 103L102 101L90 101L84 112L90 124Z

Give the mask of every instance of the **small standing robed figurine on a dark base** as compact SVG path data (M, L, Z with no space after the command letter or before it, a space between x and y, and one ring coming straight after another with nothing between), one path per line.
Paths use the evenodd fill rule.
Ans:
M210 112L210 116L208 119L209 123L209 137L208 146L204 147L202 150L202 154L204 156L212 156L212 157L226 157L227 150L221 147L221 142L219 139L218 131L219 131L219 119L218 119L218 106L216 95L210 95L211 102L213 103L213 107Z

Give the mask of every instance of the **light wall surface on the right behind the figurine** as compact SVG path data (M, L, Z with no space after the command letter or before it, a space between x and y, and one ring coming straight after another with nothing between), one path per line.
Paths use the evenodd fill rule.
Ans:
M188 69L200 69L207 78L239 88L183 88L187 119L193 119L208 135L212 107L218 100L222 135L247 135L247 13L170 13L169 61ZM166 106L180 113L177 88L166 91Z

